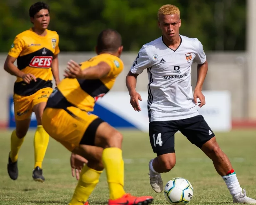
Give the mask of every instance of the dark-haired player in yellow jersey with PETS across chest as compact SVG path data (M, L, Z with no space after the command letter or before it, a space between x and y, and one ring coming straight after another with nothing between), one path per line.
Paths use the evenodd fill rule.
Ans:
M41 124L43 110L52 92L52 75L59 83L58 53L59 36L47 29L50 22L49 6L42 2L31 5L29 16L33 27L18 34L5 61L4 69L17 76L14 83L14 111L16 129L11 135L11 151L8 174L18 177L18 152L27 134L31 113L36 114L37 130L34 137L35 165L32 177L35 181L45 180L42 161L48 146L49 135ZM17 59L17 67L14 62Z

